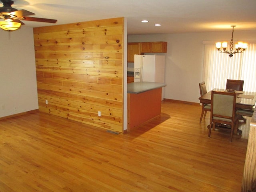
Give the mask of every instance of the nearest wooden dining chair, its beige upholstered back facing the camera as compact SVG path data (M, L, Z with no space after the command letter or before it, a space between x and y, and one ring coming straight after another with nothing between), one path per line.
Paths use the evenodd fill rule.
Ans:
M209 137L211 136L211 130L215 130L216 123L230 126L231 142L234 129L238 129L236 93L212 91Z

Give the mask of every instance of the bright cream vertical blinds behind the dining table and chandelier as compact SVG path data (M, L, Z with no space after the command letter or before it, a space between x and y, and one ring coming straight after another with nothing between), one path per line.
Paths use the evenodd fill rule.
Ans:
M215 44L205 44L204 81L207 90L226 88L226 80L244 80L244 91L256 92L256 44L248 44L243 53L228 54L216 50Z

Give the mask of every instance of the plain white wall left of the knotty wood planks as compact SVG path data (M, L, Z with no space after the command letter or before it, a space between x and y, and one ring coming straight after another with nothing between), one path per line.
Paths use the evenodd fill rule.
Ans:
M38 109L33 29L0 36L0 117Z

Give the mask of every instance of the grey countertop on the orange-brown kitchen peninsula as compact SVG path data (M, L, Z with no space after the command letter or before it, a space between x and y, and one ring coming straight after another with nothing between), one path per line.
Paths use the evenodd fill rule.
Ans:
M152 89L157 89L161 87L165 87L164 83L156 83L156 82L134 82L127 84L127 93L138 94L145 91L149 91Z

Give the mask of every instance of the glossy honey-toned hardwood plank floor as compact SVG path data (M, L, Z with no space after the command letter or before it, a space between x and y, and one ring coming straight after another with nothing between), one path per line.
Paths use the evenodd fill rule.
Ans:
M248 126L208 138L200 113L164 101L127 134L40 112L2 120L0 192L240 192Z

